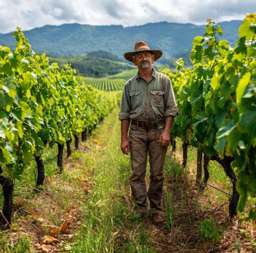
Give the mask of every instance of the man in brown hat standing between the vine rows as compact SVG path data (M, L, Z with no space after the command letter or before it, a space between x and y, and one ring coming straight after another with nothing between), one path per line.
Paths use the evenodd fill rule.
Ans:
M129 179L134 208L144 217L147 198L155 224L164 222L161 215L163 167L173 118L178 115L171 80L152 67L162 56L161 50L150 50L147 43L135 43L134 51L124 54L125 59L138 67L136 76L124 85L121 111L121 149L131 151L132 174ZM128 129L129 137L127 137ZM146 189L145 175L149 154L150 183Z

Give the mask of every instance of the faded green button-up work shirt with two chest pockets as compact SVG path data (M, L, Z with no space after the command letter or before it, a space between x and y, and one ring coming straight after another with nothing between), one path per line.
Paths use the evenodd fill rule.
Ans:
M177 116L179 109L170 78L154 68L147 83L138 72L123 89L119 120L135 119L153 122L166 116Z

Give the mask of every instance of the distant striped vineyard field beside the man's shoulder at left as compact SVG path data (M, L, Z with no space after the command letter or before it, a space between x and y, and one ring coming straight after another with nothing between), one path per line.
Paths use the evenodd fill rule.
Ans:
M83 78L86 85L105 91L123 90L126 79L107 79L107 78Z

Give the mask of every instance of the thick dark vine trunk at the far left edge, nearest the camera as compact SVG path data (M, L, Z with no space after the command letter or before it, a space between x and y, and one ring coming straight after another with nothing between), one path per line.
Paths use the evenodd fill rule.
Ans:
M12 192L13 192L14 183L12 182L11 179L3 177L1 173L3 173L3 170L2 170L2 167L0 166L0 184L2 185L3 195L4 195L3 215L6 218L6 220L9 222L9 224L11 224L12 208L13 208ZM2 220L2 216L0 216L0 220Z

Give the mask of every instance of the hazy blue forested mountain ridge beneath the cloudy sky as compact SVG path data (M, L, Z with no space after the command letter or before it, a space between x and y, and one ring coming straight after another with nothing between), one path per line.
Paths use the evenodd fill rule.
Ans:
M223 29L222 38L233 45L238 39L238 27L241 24L242 21L230 21L217 25ZM47 55L55 57L82 55L95 50L123 57L124 52L132 50L134 43L139 40L146 41L151 49L163 50L164 56L170 57L181 51L191 50L193 38L205 33L205 25L168 22L135 27L64 24L47 25L25 31L24 34L34 51L45 51ZM12 33L0 36L0 45L13 50L15 44Z

